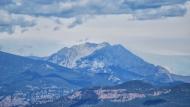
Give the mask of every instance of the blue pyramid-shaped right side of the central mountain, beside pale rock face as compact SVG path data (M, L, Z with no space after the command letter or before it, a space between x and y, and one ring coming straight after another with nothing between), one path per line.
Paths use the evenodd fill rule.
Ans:
M110 74L113 82L144 80L151 83L172 82L166 69L147 63L121 45L109 45L77 61L75 69ZM108 78L109 79L109 78Z

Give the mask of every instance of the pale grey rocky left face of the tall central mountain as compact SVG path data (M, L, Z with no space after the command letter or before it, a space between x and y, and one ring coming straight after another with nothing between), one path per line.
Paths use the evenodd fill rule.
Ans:
M80 45L75 45L70 48L65 47L55 54L47 57L47 61L56 63L58 65L72 68L76 66L76 61L84 56L88 56L93 53L95 50L100 49L102 47L108 46L108 43L85 43Z

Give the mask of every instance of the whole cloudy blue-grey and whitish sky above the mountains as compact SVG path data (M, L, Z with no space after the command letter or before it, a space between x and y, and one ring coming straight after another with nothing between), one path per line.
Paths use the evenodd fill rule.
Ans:
M122 44L144 58L190 56L190 1L0 0L1 51L47 56L87 41Z

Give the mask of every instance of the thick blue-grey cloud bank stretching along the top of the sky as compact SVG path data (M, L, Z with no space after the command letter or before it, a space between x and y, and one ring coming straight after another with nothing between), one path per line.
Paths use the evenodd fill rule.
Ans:
M86 21L86 16L130 14L136 20L152 20L185 15L185 3L189 0L1 0L1 32L13 32L15 26L30 27L31 17L75 18L69 28ZM4 11L4 13L2 13ZM19 18L18 18L19 15ZM22 19L22 21L21 21Z

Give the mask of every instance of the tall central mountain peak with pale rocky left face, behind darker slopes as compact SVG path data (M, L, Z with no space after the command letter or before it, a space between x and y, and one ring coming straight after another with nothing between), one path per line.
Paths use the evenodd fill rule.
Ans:
M165 68L144 61L122 45L110 45L106 42L65 47L42 59L90 76L95 80L93 86L129 80L144 80L155 84L173 82Z

